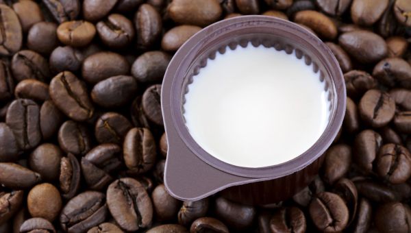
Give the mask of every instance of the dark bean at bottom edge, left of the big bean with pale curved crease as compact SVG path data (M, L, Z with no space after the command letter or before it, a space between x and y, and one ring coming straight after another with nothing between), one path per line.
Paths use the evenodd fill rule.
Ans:
M105 195L86 191L67 202L60 214L60 224L67 232L85 232L103 223L107 214Z

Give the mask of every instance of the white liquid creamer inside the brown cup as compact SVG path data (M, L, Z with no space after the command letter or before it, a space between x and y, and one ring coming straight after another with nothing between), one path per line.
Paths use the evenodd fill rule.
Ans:
M296 158L325 130L328 93L295 54L263 46L216 54L188 86L184 117L208 154L240 167Z

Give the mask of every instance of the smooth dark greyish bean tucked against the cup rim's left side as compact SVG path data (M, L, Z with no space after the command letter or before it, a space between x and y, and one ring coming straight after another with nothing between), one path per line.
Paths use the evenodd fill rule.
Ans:
M161 82L171 60L162 51L149 51L139 56L132 66L132 75L138 82Z

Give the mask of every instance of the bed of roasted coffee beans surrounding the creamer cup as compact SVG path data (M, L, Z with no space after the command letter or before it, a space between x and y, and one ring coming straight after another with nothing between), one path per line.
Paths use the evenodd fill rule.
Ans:
M190 36L243 14L326 42L340 136L291 199L179 201L162 77ZM411 232L411 0L0 0L0 32L0 233Z

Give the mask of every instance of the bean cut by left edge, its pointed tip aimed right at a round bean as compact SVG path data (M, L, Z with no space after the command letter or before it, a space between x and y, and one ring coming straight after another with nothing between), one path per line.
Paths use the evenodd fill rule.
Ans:
M0 162L0 184L8 188L31 188L40 182L39 173L12 162Z

